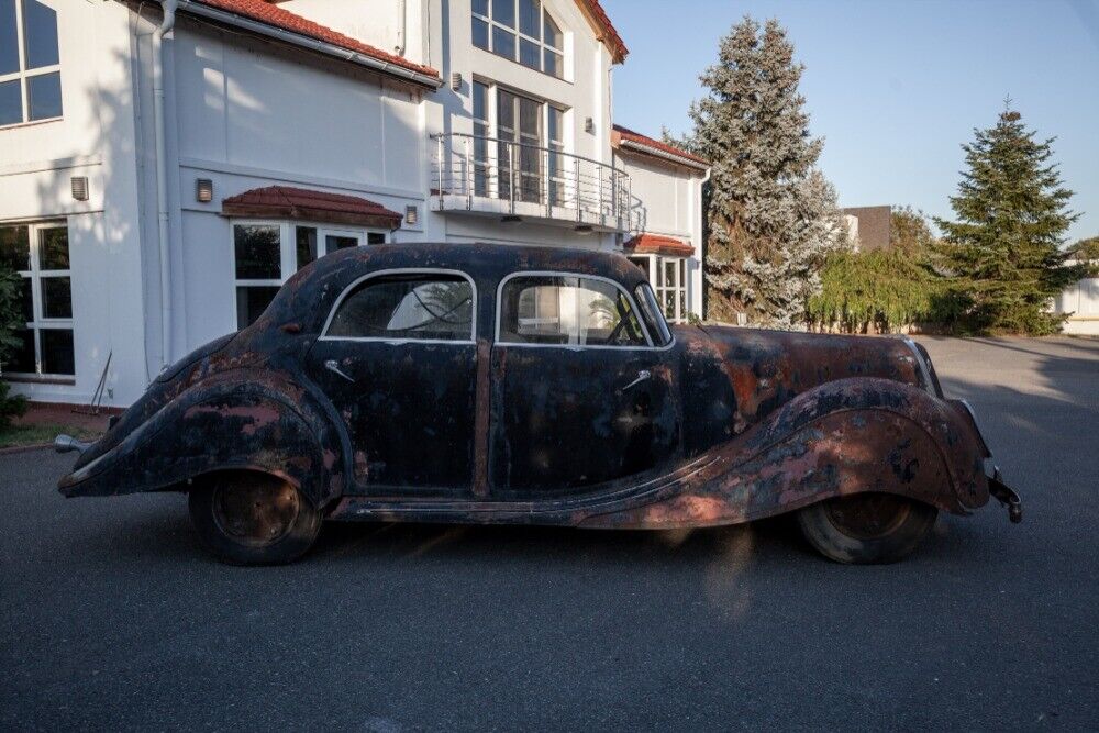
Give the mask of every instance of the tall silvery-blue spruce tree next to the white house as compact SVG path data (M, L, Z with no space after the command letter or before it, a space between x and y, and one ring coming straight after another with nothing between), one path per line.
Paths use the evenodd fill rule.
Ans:
M693 132L676 141L711 162L707 187L708 315L800 327L825 256L846 246L835 191L815 168L798 84L804 67L775 20L750 16L720 44L691 105Z

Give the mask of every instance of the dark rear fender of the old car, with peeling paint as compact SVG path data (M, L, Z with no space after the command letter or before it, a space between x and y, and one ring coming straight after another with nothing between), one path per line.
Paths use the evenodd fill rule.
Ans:
M212 471L254 469L323 507L342 493L342 453L332 420L304 389L270 373L230 371L181 392L58 489L67 497L159 491Z

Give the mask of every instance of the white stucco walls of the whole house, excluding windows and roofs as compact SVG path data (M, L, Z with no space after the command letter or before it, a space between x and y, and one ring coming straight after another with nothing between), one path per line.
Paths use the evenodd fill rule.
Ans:
M440 70L447 84L437 91L181 13L165 42L171 343L162 354L151 35L159 9L143 3L138 16L137 5L114 0L45 1L58 9L64 119L0 130L0 221L66 218L69 226L77 374L73 385L20 386L35 399L87 402L113 352L106 402L129 404L164 359L235 330L231 220L221 202L249 189L298 186L399 212L417 207L419 222L393 233L396 242L621 246L622 234L584 234L570 222L506 224L429 206L430 135L471 132L474 78L565 108L566 149L615 164L610 52L573 0L546 3L565 32L565 79L474 47L469 0L407 0L406 56ZM400 4L281 7L393 52ZM463 77L457 90L453 71ZM697 180L643 165L632 173L652 209L647 230L693 243ZM89 177L88 201L73 200L74 175ZM198 178L213 181L212 202L196 200Z

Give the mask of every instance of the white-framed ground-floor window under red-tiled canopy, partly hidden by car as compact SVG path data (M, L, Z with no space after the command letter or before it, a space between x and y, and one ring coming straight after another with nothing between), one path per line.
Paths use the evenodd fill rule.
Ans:
M384 244L386 233L322 224L233 224L236 327L256 322L282 284L318 257L363 244Z

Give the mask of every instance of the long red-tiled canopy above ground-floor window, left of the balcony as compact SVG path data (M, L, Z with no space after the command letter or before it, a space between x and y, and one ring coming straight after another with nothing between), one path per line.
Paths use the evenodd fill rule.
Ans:
M268 186L231 196L221 202L226 216L269 216L338 224L397 229L401 214L357 196Z

